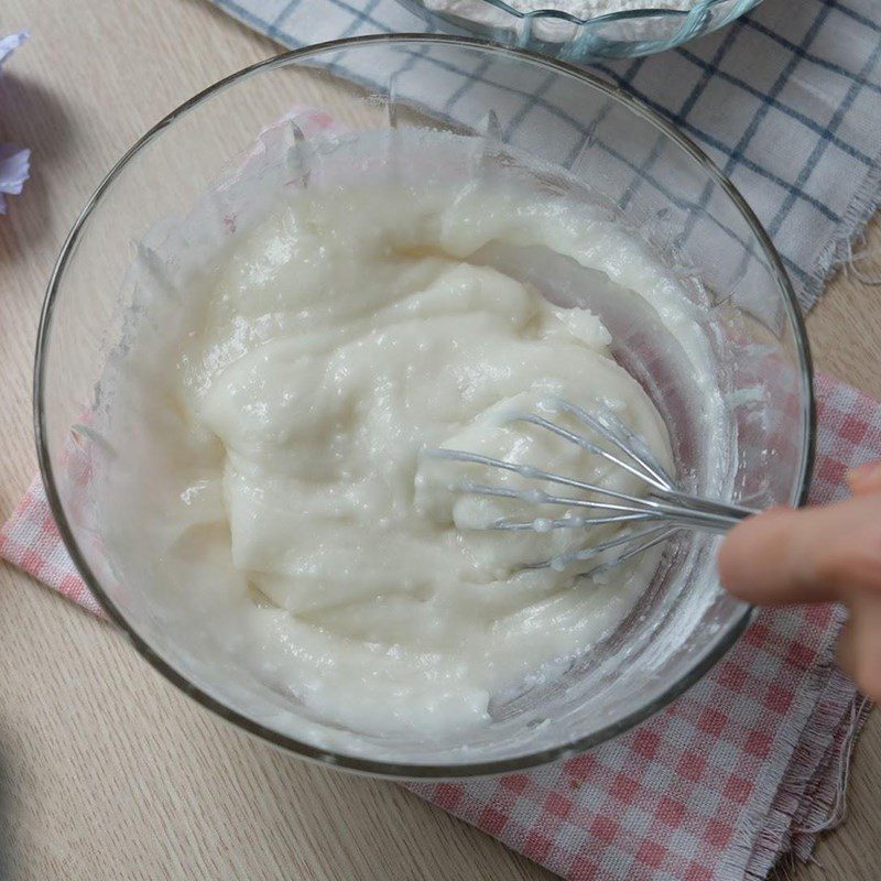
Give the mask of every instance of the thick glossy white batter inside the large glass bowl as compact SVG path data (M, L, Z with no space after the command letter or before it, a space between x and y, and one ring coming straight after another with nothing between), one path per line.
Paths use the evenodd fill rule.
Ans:
M563 200L479 183L315 188L189 292L166 334L176 360L129 358L119 423L146 427L120 445L115 491L154 534L115 519L108 545L129 563L159 547L166 605L316 718L418 736L483 724L493 695L610 634L656 565L646 555L603 584L523 573L584 536L469 527L565 510L450 492L465 476L511 478L420 457L466 448L641 491L505 421L554 394L614 407L670 460L661 418L590 313L469 263L493 239L592 251L650 298L668 285ZM148 448L155 490L142 486Z

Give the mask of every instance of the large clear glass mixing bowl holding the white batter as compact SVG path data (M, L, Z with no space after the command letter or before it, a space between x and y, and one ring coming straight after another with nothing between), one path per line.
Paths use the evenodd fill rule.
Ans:
M553 683L494 701L492 721L467 744L340 732L309 718L164 613L146 572L149 546L144 568L127 568L107 546L95 498L113 469L99 429L112 402L102 377L108 363L124 366L132 329L165 331L135 303L139 290L174 289L188 261L254 219L259 194L278 189L279 163L340 127L427 127L474 139L476 173L516 172L534 160L543 168L531 177L536 199L587 200L642 239L685 292L693 320L672 331L644 303L632 312L627 301L600 305L600 317L617 336L616 357L664 416L681 476L697 491L757 508L804 499L813 399L798 307L755 216L700 150L643 105L559 62L454 37L370 36L292 52L206 89L151 129L88 200L50 281L36 349L37 452L61 534L151 664L204 706L300 755L455 777L601 743L699 679L749 623L750 609L719 588L717 540L672 542L609 639ZM286 185L322 185L283 171ZM683 357L686 335L703 347L701 376L724 402L721 442L717 432L708 443L707 387ZM129 477L138 492L153 476Z

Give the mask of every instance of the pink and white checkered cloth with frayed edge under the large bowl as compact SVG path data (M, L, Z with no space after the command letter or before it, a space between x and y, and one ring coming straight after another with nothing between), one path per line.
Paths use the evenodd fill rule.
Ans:
M818 382L812 499L881 458L881 404ZM0 556L100 613L40 480L0 530ZM807 859L840 819L868 706L833 664L841 612L764 612L698 685L614 742L525 774L413 785L547 869L583 881L741 881Z

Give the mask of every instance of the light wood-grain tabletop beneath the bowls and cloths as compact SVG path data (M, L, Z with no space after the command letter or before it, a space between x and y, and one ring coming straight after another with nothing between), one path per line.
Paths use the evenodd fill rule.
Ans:
M0 33L20 26L33 39L0 84L0 141L33 149L33 177L0 218L0 520L36 470L34 336L76 213L145 128L276 52L204 0L3 0ZM872 242L881 250L880 224ZM839 275L808 327L820 370L881 398L881 289ZM220 722L109 627L2 564L0 603L0 878L550 878L399 786L308 765ZM846 825L816 864L780 879L878 879L879 776L875 715Z

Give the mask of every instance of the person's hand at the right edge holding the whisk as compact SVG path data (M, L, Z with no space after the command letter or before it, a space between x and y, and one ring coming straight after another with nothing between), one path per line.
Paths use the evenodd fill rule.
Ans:
M774 508L726 536L722 585L757 606L844 602L839 664L881 700L881 461L848 475L851 498L805 510Z

